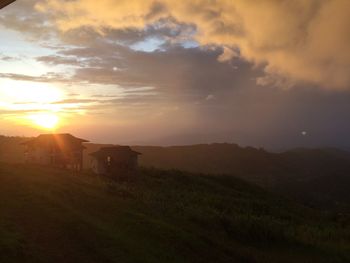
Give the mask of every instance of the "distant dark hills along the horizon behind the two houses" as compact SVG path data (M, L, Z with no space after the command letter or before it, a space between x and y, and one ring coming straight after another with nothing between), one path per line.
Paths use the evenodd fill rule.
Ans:
M0 136L0 161L23 162L21 142L26 138ZM85 144L89 153L103 144ZM110 146L110 145L108 145ZM214 143L192 146L133 146L141 152L140 165L193 173L227 174L254 182L309 206L350 211L350 153L336 148L297 148L282 153ZM332 187L329 187L332 186Z

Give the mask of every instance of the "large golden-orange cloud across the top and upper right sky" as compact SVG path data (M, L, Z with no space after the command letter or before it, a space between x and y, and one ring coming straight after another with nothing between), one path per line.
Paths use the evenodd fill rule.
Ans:
M172 17L194 25L202 45L226 47L220 61L239 50L262 66L260 84L350 88L348 0L47 0L37 9L49 13L61 32L88 27L101 35Z

